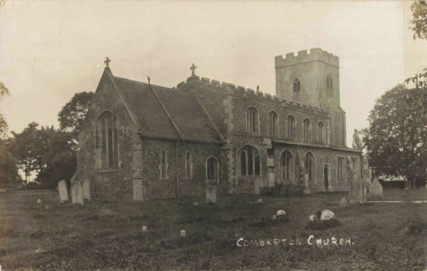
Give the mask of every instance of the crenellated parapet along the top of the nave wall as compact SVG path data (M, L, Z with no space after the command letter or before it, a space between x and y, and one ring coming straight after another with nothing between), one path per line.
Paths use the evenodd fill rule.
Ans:
M292 102L290 100L285 100L275 95L271 95L270 93L263 93L259 90L253 90L251 88L246 88L241 85L236 86L231 83L221 83L220 81L214 79L210 80L209 78L199 78L199 76L191 76L190 78L187 78L186 82L181 82L176 85L176 87L181 90L185 90L186 88L191 86L201 87L205 90L221 92L223 93L223 95L235 95L238 97L250 98L258 102L274 104L290 109L308 112L310 114L321 115L324 117L329 117L330 114L330 111L326 109L321 109L319 107L311 105L303 105L298 102Z

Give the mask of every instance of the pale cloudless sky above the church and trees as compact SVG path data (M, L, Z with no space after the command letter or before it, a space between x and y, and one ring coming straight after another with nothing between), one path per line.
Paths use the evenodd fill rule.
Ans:
M427 67L408 30L410 1L11 1L0 6L0 112L9 131L58 127L76 92L111 59L122 78L174 87L191 75L275 95L276 55L322 48L339 57L347 145L376 98Z

